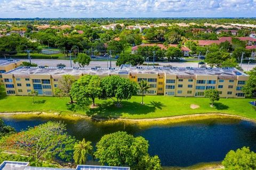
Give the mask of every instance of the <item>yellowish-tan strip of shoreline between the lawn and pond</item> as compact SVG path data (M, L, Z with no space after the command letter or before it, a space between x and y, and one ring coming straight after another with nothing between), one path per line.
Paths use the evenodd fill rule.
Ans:
M250 122L256 123L255 119L246 118L243 116L232 115L232 114L223 114L220 112L210 112L202 114L188 114L188 115L178 115L178 116L169 116L169 117L159 117L159 118L141 118L141 119L132 119L132 118L94 118L85 115L79 114L60 114L58 112L0 112L0 117L15 117L15 118L33 118L33 117L42 117L42 118L63 118L69 120L81 120L87 119L95 122L104 122L104 123L115 123L115 122L125 122L125 123L136 123L141 125L151 125L151 124L169 124L169 123L180 123L187 122L191 120L205 120L205 119L236 119L236 120L247 120Z

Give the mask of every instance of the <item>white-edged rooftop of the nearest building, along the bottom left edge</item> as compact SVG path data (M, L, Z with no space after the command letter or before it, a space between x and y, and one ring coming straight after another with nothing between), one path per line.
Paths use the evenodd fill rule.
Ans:
M28 162L4 161L0 170L130 170L130 167L77 165L76 168L47 168L29 166Z

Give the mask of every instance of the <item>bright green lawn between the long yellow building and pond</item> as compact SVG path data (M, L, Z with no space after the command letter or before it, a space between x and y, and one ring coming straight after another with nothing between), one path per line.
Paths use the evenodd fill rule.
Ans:
M4 90L1 86L2 91ZM83 114L97 118L157 118L186 114L221 112L256 119L256 107L249 102L252 99L220 99L210 107L206 98L178 98L169 96L146 96L145 105L141 105L141 96L133 96L131 100L123 101L122 107L117 108L111 100L96 100L98 108L90 108L91 102L85 104L68 104L68 98L35 97L35 104L31 96L5 96L0 98L0 112L17 111L45 111L61 112L62 114ZM190 104L197 104L200 108L191 109Z

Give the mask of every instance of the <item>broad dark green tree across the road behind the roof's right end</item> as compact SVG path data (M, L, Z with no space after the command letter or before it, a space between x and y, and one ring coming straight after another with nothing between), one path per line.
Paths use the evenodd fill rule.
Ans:
M229 53L217 51L207 54L205 62L211 67L222 67L223 62L230 58L231 56Z

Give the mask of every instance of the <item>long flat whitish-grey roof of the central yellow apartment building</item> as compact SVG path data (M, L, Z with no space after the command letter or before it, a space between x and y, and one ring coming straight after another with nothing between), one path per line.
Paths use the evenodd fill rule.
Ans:
M210 75L210 76L247 76L244 72L236 68L191 68L191 67L121 67L115 69L107 68L39 68L39 67L18 67L16 69L5 72L3 75L73 75L81 74L90 75L133 75L133 74L163 74L166 75Z

